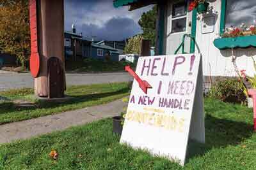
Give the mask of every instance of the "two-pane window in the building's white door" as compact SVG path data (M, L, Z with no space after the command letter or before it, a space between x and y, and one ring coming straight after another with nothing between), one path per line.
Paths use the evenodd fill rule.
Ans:
M173 4L172 7L172 33L186 31L187 22L186 3Z

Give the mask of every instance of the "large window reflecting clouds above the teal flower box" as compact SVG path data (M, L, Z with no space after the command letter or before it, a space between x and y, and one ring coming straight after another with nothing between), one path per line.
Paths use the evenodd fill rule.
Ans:
M255 0L226 0L225 27L239 27L242 23L250 26L256 20Z

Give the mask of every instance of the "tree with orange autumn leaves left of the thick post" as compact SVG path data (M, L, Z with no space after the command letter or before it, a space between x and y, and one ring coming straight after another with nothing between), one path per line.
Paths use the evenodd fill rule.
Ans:
M0 50L25 66L30 53L28 0L0 0Z

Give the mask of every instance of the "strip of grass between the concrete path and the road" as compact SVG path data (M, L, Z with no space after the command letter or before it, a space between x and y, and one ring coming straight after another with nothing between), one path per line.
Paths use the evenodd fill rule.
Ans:
M34 101L35 105L24 107L10 102L0 103L0 125L10 122L43 117L68 110L76 110L99 104L109 103L129 95L127 83L108 83L99 85L81 85L68 87L67 96L74 97L61 103L47 103L36 101L32 89L10 90L0 92L0 96L10 99L27 99Z

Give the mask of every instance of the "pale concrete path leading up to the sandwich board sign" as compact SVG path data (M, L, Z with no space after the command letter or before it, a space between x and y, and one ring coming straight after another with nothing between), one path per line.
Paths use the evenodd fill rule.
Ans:
M67 111L58 115L0 125L0 144L60 131L68 127L83 125L102 118L114 117L119 115L125 106L127 106L127 103L122 102L122 99L120 99L108 104Z

